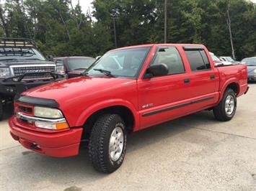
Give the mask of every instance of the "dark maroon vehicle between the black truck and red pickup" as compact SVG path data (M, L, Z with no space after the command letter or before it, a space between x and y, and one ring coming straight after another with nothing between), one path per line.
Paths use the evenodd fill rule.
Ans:
M54 60L57 63L63 63L68 77L74 78L84 73L84 70L87 70L96 59L94 57L56 57Z

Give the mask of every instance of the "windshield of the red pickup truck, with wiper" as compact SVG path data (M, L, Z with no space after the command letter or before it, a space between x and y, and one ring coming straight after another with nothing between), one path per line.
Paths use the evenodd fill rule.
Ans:
M140 47L107 52L88 68L87 75L99 76L108 73L112 77L135 78L149 54L149 50L150 47Z

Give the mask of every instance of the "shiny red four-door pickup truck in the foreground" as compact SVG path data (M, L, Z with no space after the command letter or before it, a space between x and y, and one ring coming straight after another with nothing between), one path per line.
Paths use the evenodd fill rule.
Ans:
M53 157L77 155L88 142L94 168L110 173L123 162L129 132L203 110L229 121L247 90L247 67L215 67L203 45L124 47L84 76L22 93L10 133Z

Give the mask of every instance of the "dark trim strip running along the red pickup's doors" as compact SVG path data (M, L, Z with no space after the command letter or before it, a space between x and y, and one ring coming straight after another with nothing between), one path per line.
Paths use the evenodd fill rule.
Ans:
M154 115L154 114L157 114L157 113L170 111L170 110L173 110L173 109L176 109L176 108L182 108L182 107L185 107L185 106L189 106L189 105L192 105L192 104L195 104L195 103L200 103L200 102L203 102L203 101L209 101L209 100L212 100L212 99L214 99L214 96L211 96L211 97L208 97L208 98L201 98L201 99L198 99L198 100L195 100L195 101L189 101L187 103L177 104L175 106L169 106L167 108L161 108L161 109L157 109L157 110L154 110L154 111L149 111L149 112L143 113L142 116L143 117L151 116L151 115Z

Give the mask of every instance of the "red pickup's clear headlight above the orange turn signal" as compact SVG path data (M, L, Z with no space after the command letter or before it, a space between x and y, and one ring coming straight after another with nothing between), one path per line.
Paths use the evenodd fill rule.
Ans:
M37 106L34 108L34 115L42 118L63 118L61 111L56 108L43 108Z

